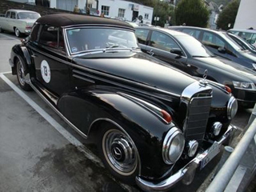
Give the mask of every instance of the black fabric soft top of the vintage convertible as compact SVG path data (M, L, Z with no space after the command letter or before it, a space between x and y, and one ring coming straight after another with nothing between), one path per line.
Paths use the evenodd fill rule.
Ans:
M81 14L47 14L45 16L42 16L41 18L38 18L37 22L40 24L48 24L51 26L58 27L79 25L110 25L133 29L133 27L126 22L121 22L111 18L100 18Z

